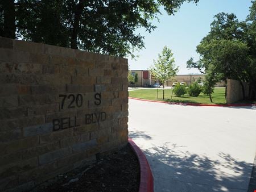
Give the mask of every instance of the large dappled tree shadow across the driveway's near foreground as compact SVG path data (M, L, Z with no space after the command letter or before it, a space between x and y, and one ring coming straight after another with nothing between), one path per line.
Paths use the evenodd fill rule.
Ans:
M168 145L168 146L167 146ZM253 164L219 153L218 160L166 143L144 151L155 191L247 191Z

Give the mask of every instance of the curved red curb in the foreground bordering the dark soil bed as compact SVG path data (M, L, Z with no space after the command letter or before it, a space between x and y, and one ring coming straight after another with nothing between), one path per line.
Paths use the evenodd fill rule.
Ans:
M131 138L128 138L128 142L139 160L139 169L141 171L139 192L154 192L154 178L152 176L150 165L147 162L146 156Z

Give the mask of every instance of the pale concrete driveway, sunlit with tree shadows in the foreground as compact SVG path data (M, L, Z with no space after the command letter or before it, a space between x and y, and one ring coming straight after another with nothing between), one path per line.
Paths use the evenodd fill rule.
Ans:
M144 151L155 191L247 191L256 108L129 99L129 136Z

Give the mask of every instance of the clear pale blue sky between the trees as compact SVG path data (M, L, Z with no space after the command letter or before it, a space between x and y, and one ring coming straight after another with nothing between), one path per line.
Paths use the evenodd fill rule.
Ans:
M157 26L155 31L151 34L142 29L137 31L145 36L145 48L134 52L139 56L136 60L128 57L129 69L148 69L167 45L174 53L175 65L179 66L178 74L199 73L196 69L188 70L186 62L190 57L199 58L196 45L210 31L213 16L218 12L233 12L239 20L245 20L250 6L251 0L200 0L197 5L184 3L175 15L170 16L163 11L159 16L160 23L153 22Z

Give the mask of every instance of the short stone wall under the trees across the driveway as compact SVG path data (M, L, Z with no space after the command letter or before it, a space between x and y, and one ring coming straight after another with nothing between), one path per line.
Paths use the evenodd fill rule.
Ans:
M249 85L243 82L243 87L245 87L245 97L249 95ZM228 80L226 85L226 103L234 103L241 101L243 99L242 86L237 80Z

